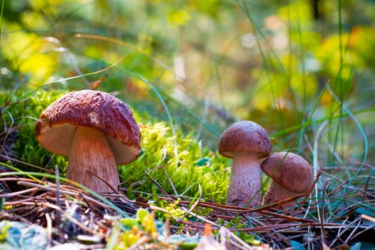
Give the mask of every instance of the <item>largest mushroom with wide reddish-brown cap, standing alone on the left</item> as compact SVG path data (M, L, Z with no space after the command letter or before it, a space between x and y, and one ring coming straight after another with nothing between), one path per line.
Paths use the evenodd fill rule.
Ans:
M68 179L98 193L119 189L116 165L134 161L141 150L141 131L129 106L101 91L71 92L54 101L35 133L45 149L69 156Z

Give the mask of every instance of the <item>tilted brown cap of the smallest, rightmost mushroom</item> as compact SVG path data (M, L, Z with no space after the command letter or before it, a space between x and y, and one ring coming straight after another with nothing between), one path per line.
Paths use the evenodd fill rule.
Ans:
M261 170L264 171L264 174L270 176L285 154L286 152L275 153L263 161ZM311 187L313 174L308 161L299 155L289 153L271 179L285 189L294 191L296 194L304 194Z

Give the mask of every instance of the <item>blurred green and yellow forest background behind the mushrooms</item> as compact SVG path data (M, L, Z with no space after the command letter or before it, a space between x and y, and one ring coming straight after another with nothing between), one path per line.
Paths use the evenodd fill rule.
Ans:
M239 119L289 149L314 111L293 151L316 167L374 162L373 0L2 4L1 90L102 80L99 90L214 150Z

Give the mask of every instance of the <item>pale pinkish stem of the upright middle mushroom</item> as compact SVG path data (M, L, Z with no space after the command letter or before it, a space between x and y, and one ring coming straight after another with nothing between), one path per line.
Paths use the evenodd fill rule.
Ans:
M234 206L258 206L261 203L261 168L255 154L235 154L227 203Z

